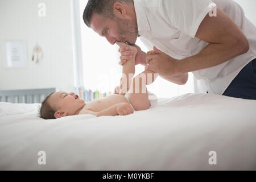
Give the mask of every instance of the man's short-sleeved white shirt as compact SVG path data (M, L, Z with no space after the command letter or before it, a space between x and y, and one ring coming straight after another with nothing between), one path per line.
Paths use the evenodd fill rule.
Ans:
M238 3L232 0L134 0L140 39L175 59L201 52L207 42L195 37L200 23L212 12L213 3L233 19L249 40L247 53L212 68L192 72L200 93L223 94L243 67L256 58L256 27Z

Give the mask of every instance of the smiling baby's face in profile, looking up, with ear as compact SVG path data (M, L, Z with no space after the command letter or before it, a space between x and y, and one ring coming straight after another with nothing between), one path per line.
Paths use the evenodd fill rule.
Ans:
M53 107L56 113L59 111L63 115L55 115L56 118L63 117L66 115L75 115L77 111L81 109L85 102L81 100L75 93L55 92L49 97L49 105Z

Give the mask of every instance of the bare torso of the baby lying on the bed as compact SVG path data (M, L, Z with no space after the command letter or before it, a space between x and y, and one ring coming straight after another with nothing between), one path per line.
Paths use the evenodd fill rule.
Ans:
M129 103L126 100L125 96L113 94L108 97L100 98L92 102L86 103L82 110L79 112L79 114L95 114L97 112L100 112L101 110L107 109L121 102Z

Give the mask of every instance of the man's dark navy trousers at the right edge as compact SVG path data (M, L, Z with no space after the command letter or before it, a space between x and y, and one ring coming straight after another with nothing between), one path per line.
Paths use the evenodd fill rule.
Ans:
M256 100L256 59L238 73L222 95Z

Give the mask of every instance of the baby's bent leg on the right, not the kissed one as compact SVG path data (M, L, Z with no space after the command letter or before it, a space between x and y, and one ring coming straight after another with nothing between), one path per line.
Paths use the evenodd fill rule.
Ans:
M146 85L155 81L157 74L150 70L145 70L138 76L133 78L129 90L129 101L135 110L149 109L150 100L148 100L148 92Z

